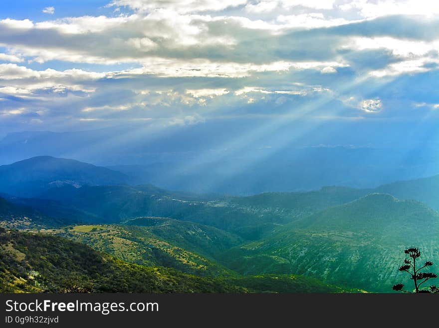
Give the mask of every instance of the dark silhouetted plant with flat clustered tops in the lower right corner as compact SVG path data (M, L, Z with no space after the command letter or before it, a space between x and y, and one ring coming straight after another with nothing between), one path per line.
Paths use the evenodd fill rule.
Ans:
M416 259L421 256L421 251L417 248L408 248L404 251L405 254L408 254L412 260L405 259L404 264L399 268L401 272L407 272L413 280L413 284L415 285L414 292L403 290L404 284L396 284L392 287L394 291L400 291L404 293L439 293L439 288L436 286L430 286L429 289L420 289L421 285L432 278L437 278L438 276L432 272L420 272L422 269L430 267L433 265L433 262L427 261L422 267L416 268Z

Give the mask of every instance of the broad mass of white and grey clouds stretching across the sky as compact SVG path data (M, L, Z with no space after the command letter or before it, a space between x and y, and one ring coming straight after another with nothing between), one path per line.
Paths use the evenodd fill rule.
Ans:
M2 19L1 110L18 110L3 106L12 95L35 100L21 111L29 117L30 104L41 103L59 116L68 107L75 120L148 112L182 125L204 120L195 115L200 106L327 100L362 79L373 94L382 77L437 69L439 32L431 26L438 21L425 16L437 5L420 1L114 0L112 16ZM399 13L423 16L407 24L372 19ZM387 20L394 22L388 28ZM414 21L426 29L412 31ZM55 61L66 68L86 63L92 71L53 69ZM381 99L362 92L346 104L358 113L382 110Z

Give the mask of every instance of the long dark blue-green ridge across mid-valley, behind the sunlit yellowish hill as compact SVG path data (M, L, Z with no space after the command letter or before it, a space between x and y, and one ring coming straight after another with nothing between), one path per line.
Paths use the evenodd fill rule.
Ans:
M250 197L207 200L152 186L84 186L52 197L80 210L88 223L119 223L135 217L167 217L212 226L257 240L279 225L309 216L330 206L364 196L366 191L327 187L306 193L265 193ZM40 208L40 207L39 207ZM50 208L45 208L47 212Z

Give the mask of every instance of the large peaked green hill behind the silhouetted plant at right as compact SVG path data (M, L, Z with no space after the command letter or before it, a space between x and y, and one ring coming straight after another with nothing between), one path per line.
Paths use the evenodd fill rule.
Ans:
M439 216L427 206L376 194L234 248L223 255L222 263L245 275L293 273L391 292L401 279L398 266L405 248L416 246L426 259L439 258L438 232Z

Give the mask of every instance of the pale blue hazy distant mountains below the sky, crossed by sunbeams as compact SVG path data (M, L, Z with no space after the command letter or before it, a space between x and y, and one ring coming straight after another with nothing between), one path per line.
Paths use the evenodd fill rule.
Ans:
M74 158L133 176L137 184L232 195L328 185L374 188L438 173L438 152L427 143L372 146L365 140L350 140L350 144L312 136L288 141L287 128L244 142L240 135L251 132L249 124L228 122L226 127L207 122L172 127L166 133L139 126L10 133L0 142L0 163L40 155Z

